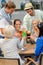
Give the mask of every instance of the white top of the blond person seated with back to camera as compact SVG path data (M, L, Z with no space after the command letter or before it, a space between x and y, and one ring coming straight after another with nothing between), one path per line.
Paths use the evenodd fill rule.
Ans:
M4 53L4 57L19 58L22 65L23 61L18 54L18 45L20 46L19 40L16 37L8 40L0 39L0 47L2 49L2 52Z

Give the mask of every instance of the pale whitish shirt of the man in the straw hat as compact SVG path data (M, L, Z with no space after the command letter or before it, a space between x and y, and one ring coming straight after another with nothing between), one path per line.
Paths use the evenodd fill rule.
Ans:
M38 19L40 22L43 21L43 11L35 10L35 15L30 16L28 13L24 16L22 27L26 30L30 30L32 32L32 22L33 20Z

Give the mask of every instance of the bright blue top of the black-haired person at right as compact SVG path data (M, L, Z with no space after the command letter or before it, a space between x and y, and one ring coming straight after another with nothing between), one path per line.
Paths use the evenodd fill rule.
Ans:
M35 55L39 56L43 52L43 36L37 38Z

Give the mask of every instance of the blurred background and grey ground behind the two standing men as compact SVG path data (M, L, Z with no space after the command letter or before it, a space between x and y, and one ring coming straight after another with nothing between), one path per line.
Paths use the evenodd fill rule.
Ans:
M13 1L16 4L16 11L13 13L12 20L16 18L21 19L21 21L23 20L23 17L26 14L24 5L27 2L32 2L35 9L43 10L43 0L0 0L0 9L8 1Z

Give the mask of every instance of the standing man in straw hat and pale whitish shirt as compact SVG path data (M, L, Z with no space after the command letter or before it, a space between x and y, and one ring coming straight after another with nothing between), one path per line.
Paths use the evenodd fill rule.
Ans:
M22 27L32 32L32 21L34 19L39 19L41 22L43 20L43 11L34 10L34 6L32 5L32 3L26 3L24 10L27 12L27 14L23 18Z

